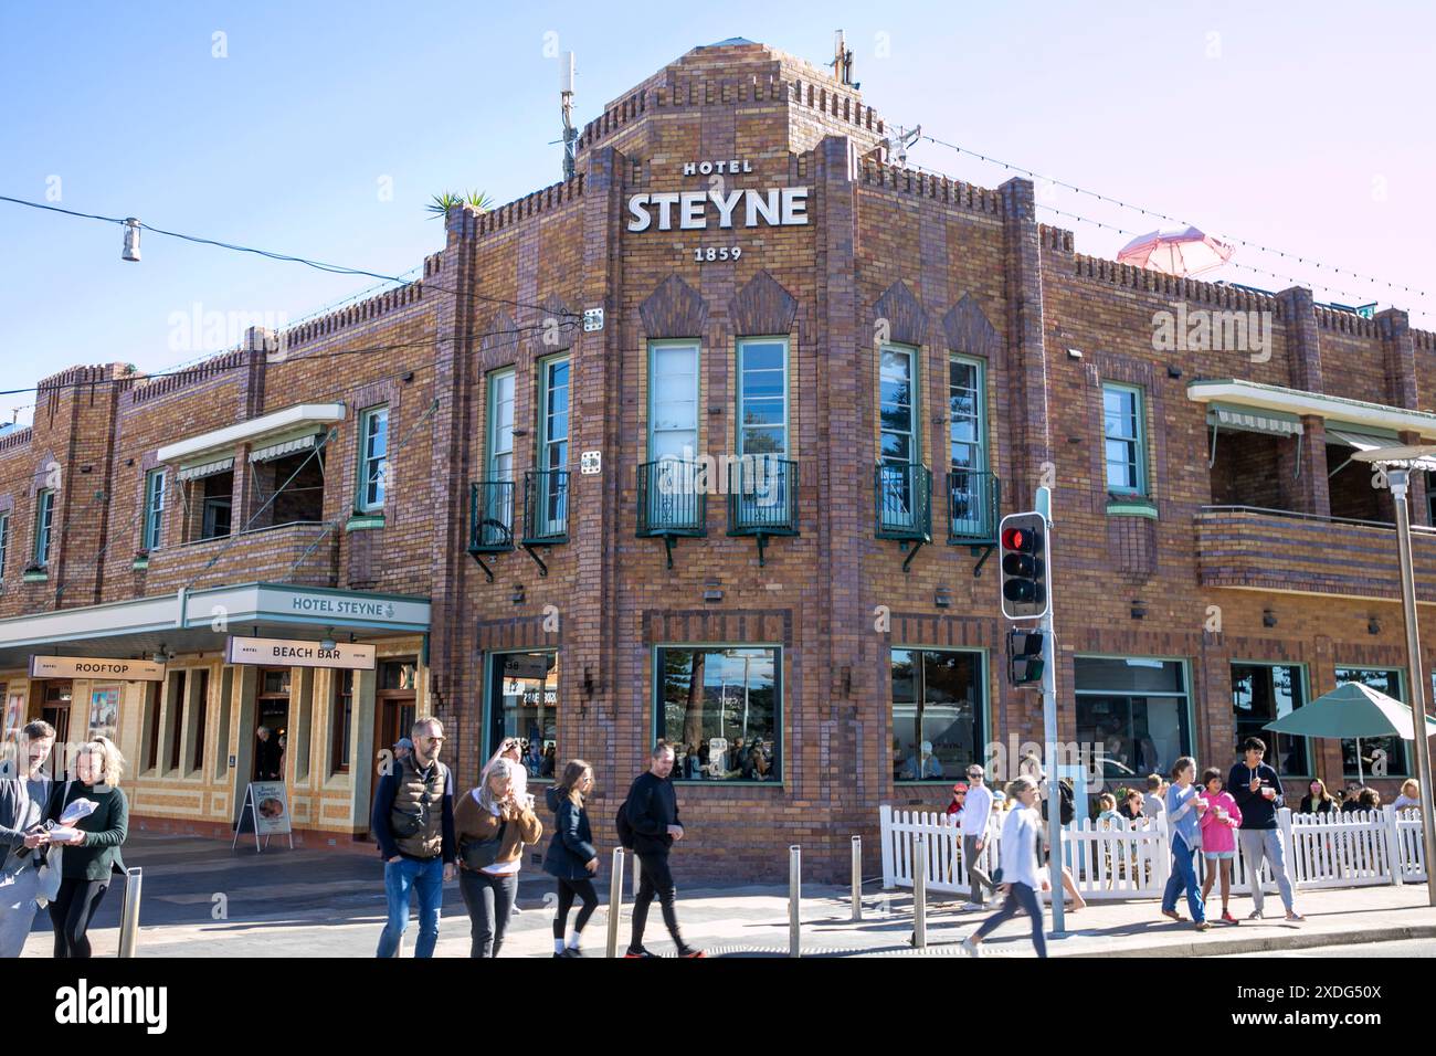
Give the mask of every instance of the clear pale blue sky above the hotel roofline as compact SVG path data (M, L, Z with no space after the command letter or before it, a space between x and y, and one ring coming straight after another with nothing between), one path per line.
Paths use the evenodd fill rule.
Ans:
M57 177L67 208L395 274L442 243L431 194L503 203L559 178L547 33L577 52L582 124L696 45L745 36L823 63L843 27L866 101L890 121L1310 254L1236 260L1436 328L1430 4L1054 1L951 6L941 22L932 6L882 7L7 3L0 194L45 201ZM227 57L213 56L215 32ZM988 187L1011 175L931 144L909 159ZM1040 201L1159 226L1067 191ZM1126 241L1043 218L1073 227L1081 251ZM0 203L0 389L73 363L154 371L217 351L178 341L171 318L195 305L294 320L372 284L155 236L139 264L119 251L118 227ZM1333 266L1427 296L1324 279ZM0 397L0 421L32 402Z

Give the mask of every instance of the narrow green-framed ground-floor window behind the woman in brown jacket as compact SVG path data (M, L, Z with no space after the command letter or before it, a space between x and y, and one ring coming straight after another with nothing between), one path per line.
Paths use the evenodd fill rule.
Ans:
M491 657L484 761L507 737L518 738L530 777L554 777L560 766L557 652L495 652Z

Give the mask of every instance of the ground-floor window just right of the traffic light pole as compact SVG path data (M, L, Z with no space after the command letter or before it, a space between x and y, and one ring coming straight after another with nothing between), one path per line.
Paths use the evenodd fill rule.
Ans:
M1077 657L1077 741L1101 753L1103 777L1166 776L1192 753L1186 665L1149 657Z

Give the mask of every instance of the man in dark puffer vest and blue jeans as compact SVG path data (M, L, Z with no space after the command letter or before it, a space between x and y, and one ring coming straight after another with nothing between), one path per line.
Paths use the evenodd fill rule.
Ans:
M439 761L444 726L424 717L414 723L414 751L395 760L379 779L369 828L383 856L383 892L389 920L378 957L398 957L409 925L409 892L419 895L415 957L432 957L439 938L444 881L454 878L454 774Z

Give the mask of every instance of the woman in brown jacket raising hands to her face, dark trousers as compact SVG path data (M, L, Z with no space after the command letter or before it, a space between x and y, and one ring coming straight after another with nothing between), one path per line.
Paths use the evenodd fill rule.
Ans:
M543 825L528 797L514 789L518 763L500 757L477 789L454 810L458 838L458 889L470 920L470 957L498 957L518 897L524 845L537 843Z

